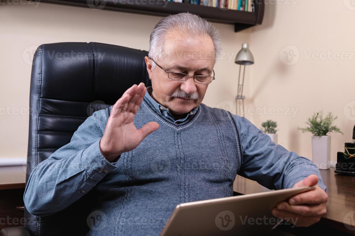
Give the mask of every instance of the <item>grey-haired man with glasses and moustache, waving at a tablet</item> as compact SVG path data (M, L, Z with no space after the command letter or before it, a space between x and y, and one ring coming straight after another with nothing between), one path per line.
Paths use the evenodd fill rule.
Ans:
M319 221L327 194L317 167L244 117L202 103L220 51L219 32L206 20L163 18L145 57L152 87L130 87L35 167L28 211L50 215L93 192L88 207L100 224L89 224L87 235L158 235L179 203L232 196L239 174L269 189L316 185L273 214L297 226Z

